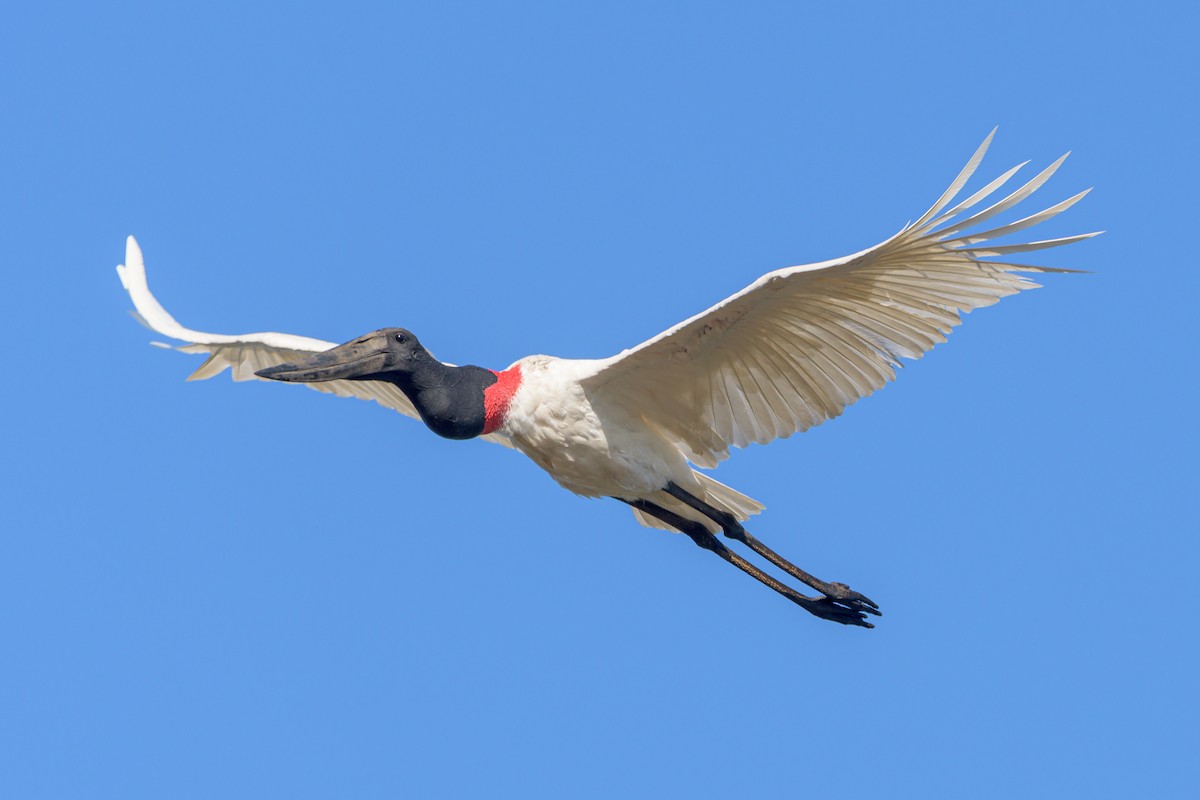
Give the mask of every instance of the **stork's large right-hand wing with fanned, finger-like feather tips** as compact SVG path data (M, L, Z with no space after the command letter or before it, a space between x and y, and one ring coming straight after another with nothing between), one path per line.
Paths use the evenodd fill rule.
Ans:
M1032 194L1067 156L982 211L955 221L1025 164L943 211L995 133L937 203L896 235L853 255L769 272L708 311L602 361L583 380L584 391L641 415L692 463L715 467L730 446L790 437L838 416L892 380L901 359L919 359L944 342L961 313L1038 285L1014 273L1073 271L1004 259L1096 233L1002 246L985 242L1049 219L1087 192L1016 222L967 233ZM982 260L991 258L1001 260Z

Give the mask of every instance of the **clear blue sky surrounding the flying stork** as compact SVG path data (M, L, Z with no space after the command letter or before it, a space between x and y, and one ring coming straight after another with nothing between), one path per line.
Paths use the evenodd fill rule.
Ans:
M113 2L0 30L0 794L1192 796L1196 12ZM602 356L1074 155L1099 239L821 428L821 622L522 457L146 347ZM974 186L979 186L978 181ZM1043 207L1043 206L1039 206Z

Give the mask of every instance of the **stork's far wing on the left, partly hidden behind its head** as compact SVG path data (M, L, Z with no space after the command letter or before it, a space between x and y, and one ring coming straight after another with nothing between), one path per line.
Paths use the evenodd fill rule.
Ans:
M298 356L322 353L337 347L335 342L323 342L292 333L271 332L224 336L184 327L175 321L174 317L167 313L167 309L150 293L150 287L146 284L145 261L142 258L142 248L138 247L138 242L133 236L130 236L126 241L125 264L118 265L116 273L120 276L121 284L126 291L130 293L130 299L133 300L133 307L137 308L133 315L138 321L156 333L187 342L187 344L176 347L175 349L178 350L208 354L208 360L188 377L188 380L205 380L221 374L226 369L232 372L234 380L263 380L254 374L259 369L294 361ZM404 416L419 419L416 409L404 392L391 384L377 380L328 380L298 385L316 389L319 392L337 395L338 397L358 397L359 399L376 401L380 405L395 409ZM480 438L508 447L512 446L508 437L498 433L491 433Z

